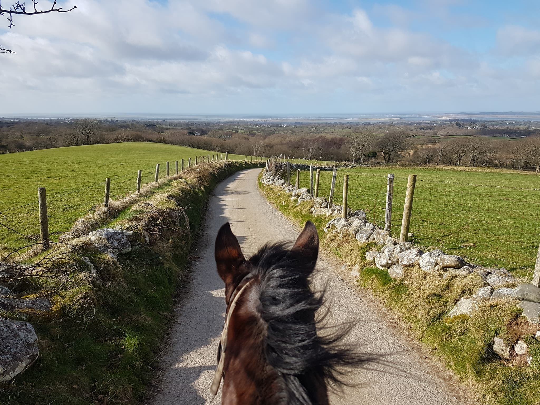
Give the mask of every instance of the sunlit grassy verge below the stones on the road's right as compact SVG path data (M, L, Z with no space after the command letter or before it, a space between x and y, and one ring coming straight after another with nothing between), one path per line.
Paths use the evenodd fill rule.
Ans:
M469 318L446 317L460 296L472 294L481 281L473 277L441 279L420 268L409 268L401 280L393 280L387 271L372 267L365 253L375 242L360 245L353 238L322 231L328 218L313 217L312 203L296 206L281 187L261 185L266 197L288 218L301 225L306 220L315 223L321 246L336 257L358 265L357 282L370 289L401 320L403 326L424 343L434 356L484 402L497 405L540 404L540 342L527 332L521 309L514 302L494 305L484 303ZM533 361L529 367L508 367L492 352L494 336L502 336L507 343L523 339L528 343Z

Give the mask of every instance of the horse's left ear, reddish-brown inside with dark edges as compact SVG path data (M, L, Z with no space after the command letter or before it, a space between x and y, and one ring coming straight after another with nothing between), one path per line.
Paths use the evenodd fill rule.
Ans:
M214 255L218 274L228 287L238 275L242 274L240 267L246 261L228 222L219 228L218 236L215 238Z

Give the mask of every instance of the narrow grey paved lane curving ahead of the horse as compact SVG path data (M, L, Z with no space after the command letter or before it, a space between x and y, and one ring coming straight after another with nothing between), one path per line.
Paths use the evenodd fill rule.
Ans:
M209 390L225 309L224 286L215 269L213 252L219 227L226 221L231 223L246 256L269 240L298 237L299 230L259 192L259 172L238 172L218 185L211 197L188 295L178 308L171 345L163 359L163 387L154 405L220 404L220 393L214 397ZM317 267L316 286L329 282L332 318L336 322L357 319L349 341L356 342L362 352L381 355L384 361L350 373L349 381L355 386L333 395L333 405L465 403L456 394L459 388L444 381L443 373L423 360L404 335L369 305L369 296L338 275L339 267L324 257L319 258Z

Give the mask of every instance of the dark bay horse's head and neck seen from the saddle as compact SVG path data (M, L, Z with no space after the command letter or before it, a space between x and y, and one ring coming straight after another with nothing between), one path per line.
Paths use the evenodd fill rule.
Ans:
M292 247L265 245L251 258L227 223L215 241L227 315L211 390L226 405L325 405L326 381L354 356L317 334L322 296L310 288L319 237L307 222Z

